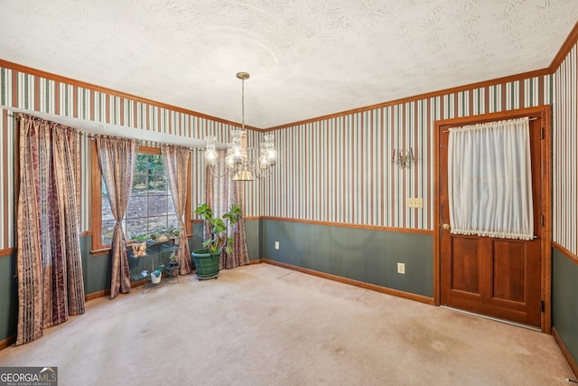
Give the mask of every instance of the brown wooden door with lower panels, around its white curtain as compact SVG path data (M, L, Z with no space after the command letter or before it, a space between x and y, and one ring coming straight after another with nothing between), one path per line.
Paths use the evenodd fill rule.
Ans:
M447 130L464 124L438 126L439 285L440 304L443 306L539 327L543 308L542 122L540 114L533 118L529 123L536 238L528 241L452 235L448 229L451 224L448 206ZM472 123L478 122L467 124Z

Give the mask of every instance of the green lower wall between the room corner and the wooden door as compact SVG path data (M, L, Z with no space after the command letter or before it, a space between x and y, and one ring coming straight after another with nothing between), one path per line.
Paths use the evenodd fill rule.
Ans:
M431 235L263 220L261 242L266 259L433 297Z

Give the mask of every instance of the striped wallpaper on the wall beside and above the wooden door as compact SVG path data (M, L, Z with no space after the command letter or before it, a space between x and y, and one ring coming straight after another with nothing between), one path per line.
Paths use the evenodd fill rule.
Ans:
M551 103L552 76L418 99L275 131L278 173L260 213L307 221L433 230L433 123ZM395 148L417 163L401 169ZM424 209L409 209L422 197Z

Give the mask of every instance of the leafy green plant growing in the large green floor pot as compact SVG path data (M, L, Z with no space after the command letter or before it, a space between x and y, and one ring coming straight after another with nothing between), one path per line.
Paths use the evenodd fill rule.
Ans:
M209 249L211 253L233 252L233 239L227 235L228 224L233 225L241 217L241 208L238 204L232 204L227 213L221 217L214 217L213 210L206 203L200 204L195 213L202 217L209 229L209 238L204 240L202 246Z

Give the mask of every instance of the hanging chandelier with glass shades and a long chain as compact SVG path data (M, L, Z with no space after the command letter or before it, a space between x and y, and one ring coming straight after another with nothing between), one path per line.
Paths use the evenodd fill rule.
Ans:
M254 181L255 177L268 177L274 171L277 162L275 150L275 136L266 134L261 142L260 151L256 148L247 147L247 129L245 128L245 80L249 79L247 72L238 72L237 78L241 80L241 128L230 131L231 142L227 147L225 157L225 170L219 174L217 154L217 137L206 138L205 164L210 168L210 174L215 177L223 177L229 174L233 181ZM258 155L258 156L257 156Z

